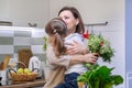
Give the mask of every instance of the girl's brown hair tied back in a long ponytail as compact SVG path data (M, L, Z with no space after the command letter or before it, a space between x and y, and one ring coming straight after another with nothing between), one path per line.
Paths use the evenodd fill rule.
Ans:
M58 57L65 54L64 37L67 35L66 23L59 18L54 18L46 24L45 32L48 36L54 36L53 47L55 55Z

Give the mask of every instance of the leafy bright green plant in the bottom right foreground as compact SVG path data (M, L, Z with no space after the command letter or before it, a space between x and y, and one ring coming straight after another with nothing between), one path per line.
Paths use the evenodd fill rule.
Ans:
M85 74L78 76L77 81L88 85L88 88L112 88L123 82L120 75L112 75L114 69L107 66L92 65L92 70L87 70Z

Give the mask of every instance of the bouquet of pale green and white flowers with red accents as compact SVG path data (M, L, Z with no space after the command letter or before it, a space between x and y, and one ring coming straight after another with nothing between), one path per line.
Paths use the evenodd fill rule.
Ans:
M84 37L88 40L88 50L91 53L98 53L102 57L103 62L111 62L114 50L110 46L110 42L103 38L101 34L84 34Z

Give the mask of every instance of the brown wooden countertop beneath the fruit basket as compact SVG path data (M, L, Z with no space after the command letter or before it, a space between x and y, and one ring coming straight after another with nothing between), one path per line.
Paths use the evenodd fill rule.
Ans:
M44 86L44 79L36 79L34 81L12 81L11 85L0 86L0 88L33 88Z

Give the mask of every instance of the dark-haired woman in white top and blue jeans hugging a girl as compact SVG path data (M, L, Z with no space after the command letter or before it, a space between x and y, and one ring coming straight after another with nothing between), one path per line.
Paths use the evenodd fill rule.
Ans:
M67 24L67 29L68 29L68 40L77 36L77 35L82 35L82 33L85 32L84 29L84 23L81 20L81 16L78 12L78 10L74 7L64 7L59 12L58 12L58 16L61 19L63 19L65 21L65 23ZM67 40L66 40L67 41ZM73 40L72 40L73 41ZM68 41L68 43L72 43L72 41ZM76 38L75 38L76 41ZM68 50L68 54L86 54L87 50L85 47L85 45L82 45L82 37L80 41L76 41L77 43L81 44L81 48L76 50L75 47L67 47ZM77 86L77 77L85 73L86 69L84 67L82 64L76 64L70 66L66 72L65 72L65 78L64 78L64 84L61 84L58 86L56 86L55 88L78 88Z

